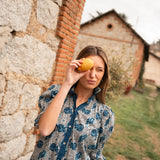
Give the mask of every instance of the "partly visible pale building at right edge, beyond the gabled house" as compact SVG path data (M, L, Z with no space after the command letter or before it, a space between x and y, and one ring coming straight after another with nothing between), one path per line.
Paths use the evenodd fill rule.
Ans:
M149 61L145 63L144 80L160 88L160 43L150 47Z

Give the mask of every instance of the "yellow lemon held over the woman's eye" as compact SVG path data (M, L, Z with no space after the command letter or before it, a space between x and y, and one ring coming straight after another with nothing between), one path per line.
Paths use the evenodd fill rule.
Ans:
M90 58L85 58L83 59L83 63L81 64L80 67L78 67L79 71L88 71L90 70L94 65L94 61L91 60Z

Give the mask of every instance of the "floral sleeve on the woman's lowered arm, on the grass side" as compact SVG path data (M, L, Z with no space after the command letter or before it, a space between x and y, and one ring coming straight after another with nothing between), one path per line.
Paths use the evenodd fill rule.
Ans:
M114 127L114 113L111 108L105 107L105 109L102 112L102 121L101 121L101 127L99 128L99 136L97 140L97 149L92 152L91 159L98 160L98 159L104 159L102 151L104 144L107 142L109 137L111 136L113 132Z

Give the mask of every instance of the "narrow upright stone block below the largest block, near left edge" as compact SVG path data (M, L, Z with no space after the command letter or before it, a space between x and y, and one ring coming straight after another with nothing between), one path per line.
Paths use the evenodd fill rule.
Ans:
M7 92L4 97L4 109L2 115L13 114L19 107L20 94L23 83L17 80L8 81Z

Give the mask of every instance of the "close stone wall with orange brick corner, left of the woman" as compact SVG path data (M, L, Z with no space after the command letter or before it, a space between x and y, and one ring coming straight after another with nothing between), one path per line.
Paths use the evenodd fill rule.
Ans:
M40 94L61 84L85 0L0 1L0 159L28 160Z

